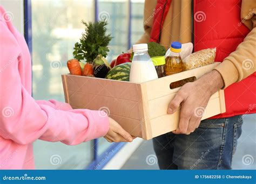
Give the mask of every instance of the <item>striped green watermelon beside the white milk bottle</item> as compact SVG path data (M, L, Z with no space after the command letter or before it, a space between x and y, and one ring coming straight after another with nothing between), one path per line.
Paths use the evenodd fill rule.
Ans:
M106 79L129 81L130 80L131 62L126 62L113 67L106 75Z

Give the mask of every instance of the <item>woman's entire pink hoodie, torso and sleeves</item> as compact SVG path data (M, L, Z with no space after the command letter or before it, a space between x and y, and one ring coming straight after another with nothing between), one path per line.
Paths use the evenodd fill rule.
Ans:
M99 111L31 97L31 60L23 36L0 6L0 169L33 169L33 141L76 145L106 135Z

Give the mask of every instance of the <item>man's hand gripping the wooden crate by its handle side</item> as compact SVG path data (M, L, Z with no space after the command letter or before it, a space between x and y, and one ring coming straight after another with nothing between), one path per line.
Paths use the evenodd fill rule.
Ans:
M181 87L167 109L169 114L173 114L181 106L179 127L173 133L189 135L194 132L200 124L210 97L223 87L224 81L217 70L212 70Z

